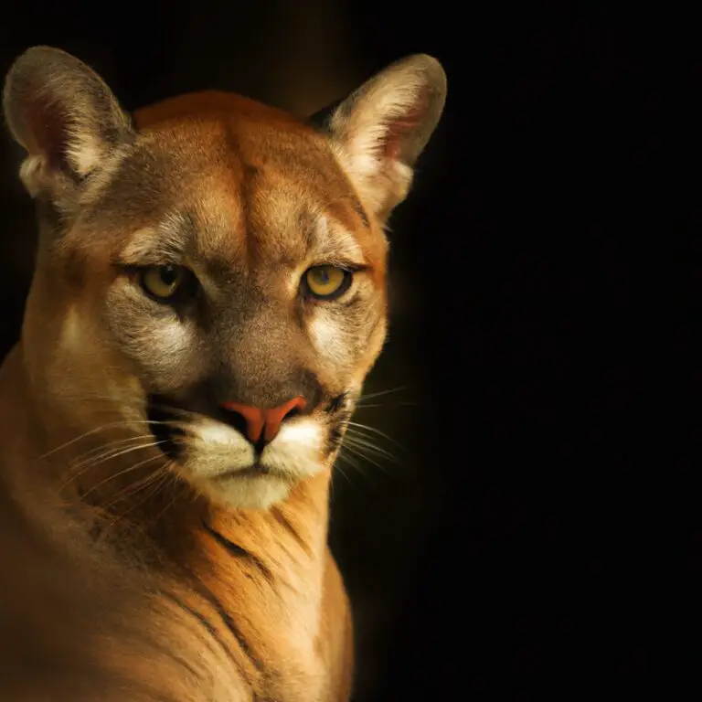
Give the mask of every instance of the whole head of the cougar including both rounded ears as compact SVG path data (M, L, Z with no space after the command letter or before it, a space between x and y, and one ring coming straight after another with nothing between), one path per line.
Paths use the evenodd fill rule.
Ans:
M383 345L382 226L444 80L407 59L324 130L225 93L132 121L78 59L19 58L5 113L40 213L23 334L47 411L75 434L148 430L226 505L327 468Z

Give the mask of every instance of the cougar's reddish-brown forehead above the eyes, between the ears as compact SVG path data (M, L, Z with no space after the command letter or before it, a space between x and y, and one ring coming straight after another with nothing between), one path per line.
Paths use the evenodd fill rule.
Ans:
M93 193L76 236L99 232L103 248L107 229L112 257L155 263L170 254L222 271L326 255L367 266L382 282L386 240L308 125L208 92L165 101L135 120L141 135L133 153Z

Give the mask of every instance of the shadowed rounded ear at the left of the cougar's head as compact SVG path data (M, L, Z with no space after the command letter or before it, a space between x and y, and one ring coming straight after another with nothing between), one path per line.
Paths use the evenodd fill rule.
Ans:
M120 146L130 118L101 78L58 48L29 48L5 79L5 120L27 151L20 177L33 197L61 204Z

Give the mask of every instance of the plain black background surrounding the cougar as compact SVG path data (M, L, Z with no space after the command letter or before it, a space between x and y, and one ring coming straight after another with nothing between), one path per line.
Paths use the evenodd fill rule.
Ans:
M698 412L679 412L699 307L695 27L670 4L2 11L0 69L58 46L127 109L221 88L314 112L406 54L443 63L446 112L391 222L368 392L392 392L358 413L398 462L351 453L334 484L358 702L629 699L654 678L683 698L700 653L696 492L677 482L697 456ZM34 246L17 158L6 138L3 353Z

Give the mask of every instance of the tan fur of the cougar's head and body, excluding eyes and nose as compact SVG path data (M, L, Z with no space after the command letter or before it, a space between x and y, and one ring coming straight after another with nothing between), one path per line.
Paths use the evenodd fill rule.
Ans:
M41 241L0 369L0 699L348 699L353 627L326 546L335 436L385 338L382 226L445 79L414 57L368 85L327 131L219 92L132 127L57 49L11 69ZM197 279L182 308L137 283L166 262ZM357 267L351 287L303 300L323 263ZM246 475L253 448L220 404L295 396L307 406L262 450L269 472ZM150 419L162 397L184 431L174 455Z

